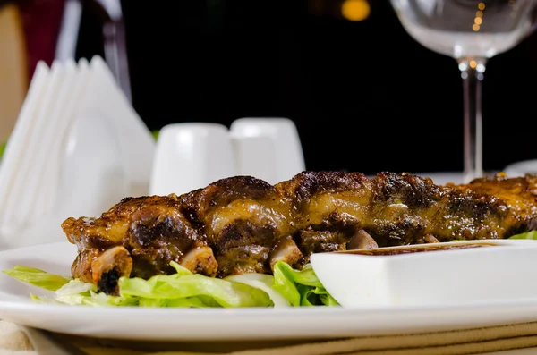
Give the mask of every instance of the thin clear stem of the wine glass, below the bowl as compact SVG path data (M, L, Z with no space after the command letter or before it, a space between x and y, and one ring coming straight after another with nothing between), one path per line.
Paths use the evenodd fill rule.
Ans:
M482 80L486 60L465 58L458 61L463 78L465 107L465 182L483 175L482 160Z

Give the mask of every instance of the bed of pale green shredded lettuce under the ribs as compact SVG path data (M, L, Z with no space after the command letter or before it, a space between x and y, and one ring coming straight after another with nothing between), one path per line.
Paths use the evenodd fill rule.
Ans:
M139 277L121 277L119 295L98 292L93 283L49 274L28 266L14 266L4 270L6 275L38 286L51 296L30 294L41 303L86 305L93 307L292 307L337 306L323 288L311 265L302 271L278 262L274 275L245 274L219 279L192 274L175 262L170 263L175 274L155 275L148 280Z

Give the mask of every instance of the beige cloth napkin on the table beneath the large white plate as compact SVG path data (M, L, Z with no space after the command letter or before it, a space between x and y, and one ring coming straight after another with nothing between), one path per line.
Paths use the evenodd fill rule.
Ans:
M126 342L67 334L57 334L57 338L90 355L470 355L537 346L537 322L428 334L279 343ZM0 355L4 354L38 355L17 325L0 320Z

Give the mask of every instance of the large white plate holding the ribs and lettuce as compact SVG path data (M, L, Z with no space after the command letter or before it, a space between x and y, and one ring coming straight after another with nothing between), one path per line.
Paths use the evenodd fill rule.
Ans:
M20 264L69 275L67 242L0 252L0 269ZM537 299L446 307L295 309L90 308L32 303L38 289L0 274L0 318L65 334L149 341L284 340L401 334L537 321Z

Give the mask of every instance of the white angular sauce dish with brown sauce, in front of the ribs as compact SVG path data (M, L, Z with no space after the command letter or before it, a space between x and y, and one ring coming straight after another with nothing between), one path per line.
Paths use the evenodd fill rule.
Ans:
M535 259L537 241L482 240L317 253L311 266L342 306L390 308L537 298Z

